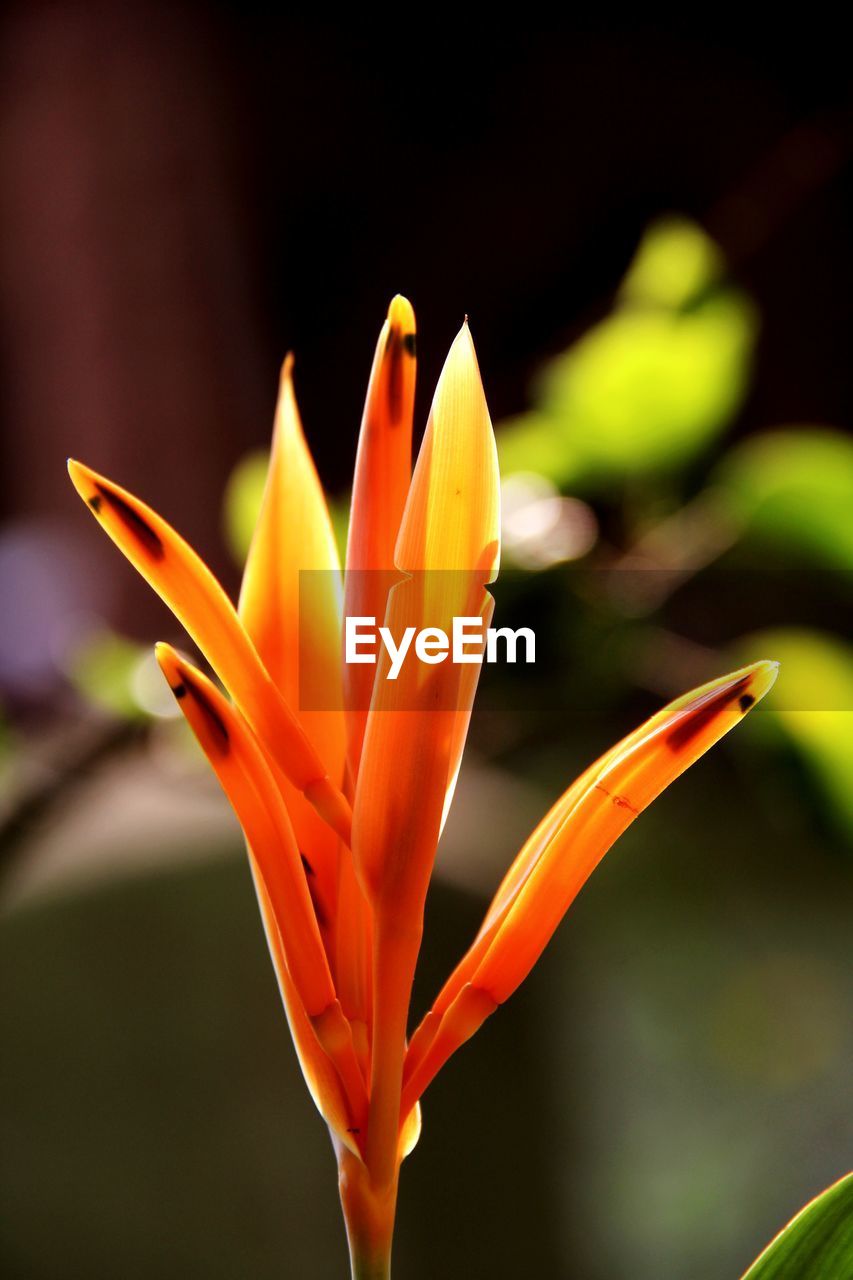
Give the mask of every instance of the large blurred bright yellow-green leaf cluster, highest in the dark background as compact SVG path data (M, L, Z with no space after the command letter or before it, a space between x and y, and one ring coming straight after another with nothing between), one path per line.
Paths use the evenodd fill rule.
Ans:
M612 314L546 366L534 412L498 434L505 472L584 490L679 468L736 412L756 329L713 241L685 220L653 225Z

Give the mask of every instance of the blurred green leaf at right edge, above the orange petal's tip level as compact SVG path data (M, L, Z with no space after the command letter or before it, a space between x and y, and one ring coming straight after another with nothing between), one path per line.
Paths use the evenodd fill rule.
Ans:
M768 431L717 467L726 515L765 540L853 568L853 440L826 428Z

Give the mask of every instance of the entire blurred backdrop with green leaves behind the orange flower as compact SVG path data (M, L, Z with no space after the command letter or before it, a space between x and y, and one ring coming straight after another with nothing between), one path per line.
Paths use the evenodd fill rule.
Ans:
M418 1012L580 768L783 664L429 1091L400 1275L736 1276L849 1166L853 100L831 26L744 22L6 6L9 1280L345 1274L240 835L152 669L179 634L64 460L234 590L284 351L343 534L397 291L421 422L470 315L498 616L540 640L483 682Z

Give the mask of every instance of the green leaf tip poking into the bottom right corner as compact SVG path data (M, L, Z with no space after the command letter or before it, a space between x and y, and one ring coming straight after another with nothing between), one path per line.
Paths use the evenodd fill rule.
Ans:
M743 1280L844 1280L844 1276L853 1276L853 1174L800 1210Z

